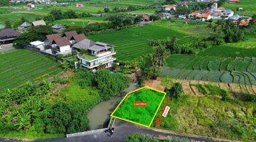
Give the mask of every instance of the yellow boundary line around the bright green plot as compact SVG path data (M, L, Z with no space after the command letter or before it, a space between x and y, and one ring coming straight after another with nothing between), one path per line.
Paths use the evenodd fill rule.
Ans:
M139 124L139 123L137 123L137 122L130 121L130 120L128 120L128 119L122 119L122 118L120 118L120 117L117 117L117 116L114 116L114 115L113 115L114 112L117 111L117 109L119 108L119 106L122 104L122 102L124 102L124 99L126 99L129 94L132 94L133 92L137 92L137 91L139 91L139 90L141 90L141 89L145 89L145 88L147 88L147 89L152 89L152 90L154 90L154 91L156 91L156 92L161 92L161 93L164 94L164 97L161 99L161 102L160 102L160 104L159 104L159 107L157 107L156 112L155 112L155 114L154 114L154 116L153 116L153 118L152 118L152 120L151 120L149 126L146 126L146 125L144 125L144 124ZM110 116L112 116L112 117L114 117L114 118L116 118L116 119L121 119L121 120L124 120L124 121L131 122L131 123L133 123L133 124L137 124L137 125L145 126L145 127L149 128L149 127L151 126L151 124L153 123L154 118L155 118L155 116L156 116L156 114L157 114L157 111L159 111L159 108L161 107L161 103L164 101L164 98L165 98L165 97L166 97L166 92L162 92L162 91L160 91L160 90L158 90L158 89L154 89L154 88L151 88L151 87L148 87L148 86L145 86L145 87L142 87L142 88L139 88L139 89L135 89L134 91L129 92L129 93L127 93L127 94L124 96L124 98L122 99L122 101L118 104L118 106L114 109L114 111L112 112L112 114L111 114Z

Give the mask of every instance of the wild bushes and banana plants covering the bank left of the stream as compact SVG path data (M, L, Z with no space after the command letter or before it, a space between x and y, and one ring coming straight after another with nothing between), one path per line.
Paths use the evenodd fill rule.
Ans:
M38 139L87 131L87 111L122 92L129 82L108 70L73 75L27 82L1 93L0 136Z

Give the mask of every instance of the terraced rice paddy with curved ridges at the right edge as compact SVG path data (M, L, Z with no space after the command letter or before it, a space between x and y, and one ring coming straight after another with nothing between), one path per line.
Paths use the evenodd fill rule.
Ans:
M221 58L208 55L172 55L162 70L184 80L256 84L256 58Z

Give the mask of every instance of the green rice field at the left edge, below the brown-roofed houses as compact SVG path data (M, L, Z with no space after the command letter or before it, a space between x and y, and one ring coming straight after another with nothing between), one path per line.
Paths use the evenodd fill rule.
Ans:
M0 53L0 92L18 87L43 75L56 75L62 70L53 59L32 50Z

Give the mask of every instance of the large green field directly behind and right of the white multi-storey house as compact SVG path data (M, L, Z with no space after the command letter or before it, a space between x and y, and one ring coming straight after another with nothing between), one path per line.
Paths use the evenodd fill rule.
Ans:
M153 52L150 40L176 37L178 43L191 43L195 38L207 34L206 24L186 24L182 20L156 21L146 26L107 31L90 35L88 38L115 45L118 60L133 60Z

